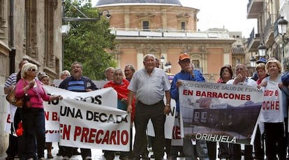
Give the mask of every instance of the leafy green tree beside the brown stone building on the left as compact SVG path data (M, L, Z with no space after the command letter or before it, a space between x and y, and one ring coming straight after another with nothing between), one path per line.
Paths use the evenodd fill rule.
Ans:
M110 34L108 19L101 16L98 10L91 8L90 1L66 0L65 17L96 18L95 21L70 22L71 30L64 36L64 69L70 70L74 61L83 66L83 75L91 80L105 79L104 71L109 66L117 66L112 55L105 50L115 46L113 34ZM75 8L75 7L77 8ZM82 15L82 13L84 15ZM67 22L66 22L67 24Z

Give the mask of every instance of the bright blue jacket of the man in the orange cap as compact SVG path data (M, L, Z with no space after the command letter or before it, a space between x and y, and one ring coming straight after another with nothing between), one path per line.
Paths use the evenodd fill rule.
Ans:
M205 78L202 76L202 73L198 70L193 70L194 76L190 73L186 73L185 71L181 71L177 73L172 80L172 84L170 86L170 96L172 99L175 99L177 105L177 112L179 112L179 89L177 88L177 80L192 80L197 82L205 82Z

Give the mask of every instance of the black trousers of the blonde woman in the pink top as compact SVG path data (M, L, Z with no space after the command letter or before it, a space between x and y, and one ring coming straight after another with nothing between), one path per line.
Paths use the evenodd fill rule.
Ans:
M25 108L22 109L23 135L22 143L19 148L22 150L21 157L38 159L44 157L45 147L45 117L43 108ZM35 142L36 140L36 142ZM36 145L37 144L37 145ZM37 154L36 154L36 148Z

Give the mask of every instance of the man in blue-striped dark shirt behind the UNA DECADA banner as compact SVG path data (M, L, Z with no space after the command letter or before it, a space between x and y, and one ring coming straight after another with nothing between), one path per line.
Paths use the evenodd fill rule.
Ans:
M82 64L75 61L71 65L71 76L63 80L59 88L67 89L73 92L90 92L98 89L94 82L89 78L82 75ZM73 147L62 147L64 149L63 157L64 159L70 159L73 155ZM91 159L91 150L89 148L80 148L82 159Z

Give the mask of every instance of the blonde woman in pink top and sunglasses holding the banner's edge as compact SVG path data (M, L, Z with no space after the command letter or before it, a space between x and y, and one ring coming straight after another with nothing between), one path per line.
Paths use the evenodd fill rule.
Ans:
M45 147L45 116L43 101L62 99L62 96L48 96L43 85L36 80L37 66L24 64L21 71L21 79L17 82L15 96L24 96L25 103L22 106L22 145L19 156L21 159L44 159ZM36 148L35 148L36 145ZM37 153L36 153L37 151Z

